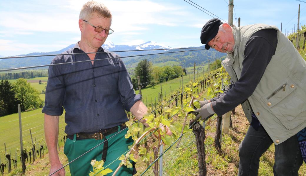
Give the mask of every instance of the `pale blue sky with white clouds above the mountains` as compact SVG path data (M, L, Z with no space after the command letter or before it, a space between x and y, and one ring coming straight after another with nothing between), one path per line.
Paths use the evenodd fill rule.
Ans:
M187 0L188 1L188 0ZM228 20L228 0L192 0ZM50 52L80 39L78 16L86 0L1 0L0 56ZM115 45L139 45L156 41L172 48L200 46L200 31L211 16L183 0L103 0L113 14L114 33L107 41ZM234 0L241 26L266 23L292 32L306 23L306 3L295 0ZM214 15L212 15L214 16ZM214 16L215 17L215 16ZM234 24L238 25L235 20ZM296 26L297 28L297 26Z

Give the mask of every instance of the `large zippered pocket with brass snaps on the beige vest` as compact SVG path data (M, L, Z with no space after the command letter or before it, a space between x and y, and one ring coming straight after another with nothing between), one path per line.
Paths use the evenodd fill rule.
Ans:
M299 115L306 111L306 105L302 98L305 96L304 94L304 91L288 77L260 100L285 128L292 130L301 124L301 119L296 118L302 118Z

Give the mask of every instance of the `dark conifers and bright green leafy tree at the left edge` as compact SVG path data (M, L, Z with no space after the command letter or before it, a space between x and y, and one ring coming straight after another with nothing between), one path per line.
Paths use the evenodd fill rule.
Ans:
M31 108L41 108L43 101L39 98L39 92L24 78L19 78L15 83L8 80L0 81L0 116L18 112L18 104L21 111Z

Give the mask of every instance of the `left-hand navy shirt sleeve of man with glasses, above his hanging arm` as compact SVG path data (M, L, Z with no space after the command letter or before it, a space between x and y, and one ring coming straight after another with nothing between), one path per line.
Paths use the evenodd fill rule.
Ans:
M59 63L59 58L52 60L51 64ZM51 116L60 116L63 114L63 100L65 95L65 86L63 76L59 71L59 66L49 66L48 82L45 94L45 106L42 113Z

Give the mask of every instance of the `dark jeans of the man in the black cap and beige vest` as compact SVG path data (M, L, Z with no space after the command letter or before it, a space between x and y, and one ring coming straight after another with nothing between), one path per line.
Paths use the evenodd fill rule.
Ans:
M267 151L273 141L259 126L256 131L249 127L247 134L239 145L239 172L238 176L258 175L259 158ZM301 151L297 142L297 136L275 145L275 158L273 172L274 176L297 176L303 163Z

